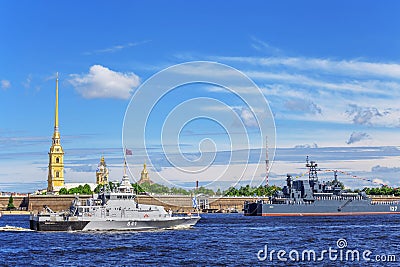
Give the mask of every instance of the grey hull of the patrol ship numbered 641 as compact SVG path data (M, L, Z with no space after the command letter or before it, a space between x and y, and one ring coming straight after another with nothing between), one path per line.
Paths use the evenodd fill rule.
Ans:
M171 217L167 220L65 220L31 216L30 229L36 231L145 231L184 229L194 226L200 217Z

